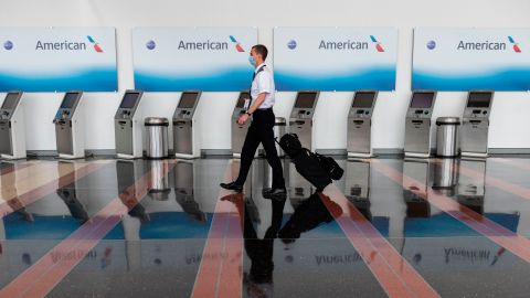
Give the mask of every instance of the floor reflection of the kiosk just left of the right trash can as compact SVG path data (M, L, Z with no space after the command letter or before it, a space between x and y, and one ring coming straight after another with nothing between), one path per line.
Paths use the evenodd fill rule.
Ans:
M411 177L415 181L403 181L403 199L406 203L407 217L430 217L431 204L428 203L428 183L432 181L428 160L403 160L403 177ZM417 182L416 182L417 181Z

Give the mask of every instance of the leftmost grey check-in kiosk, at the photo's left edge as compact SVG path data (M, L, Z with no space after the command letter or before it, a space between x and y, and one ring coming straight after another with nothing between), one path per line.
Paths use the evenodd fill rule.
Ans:
M0 155L4 159L25 158L25 123L22 93L10 92L0 108Z

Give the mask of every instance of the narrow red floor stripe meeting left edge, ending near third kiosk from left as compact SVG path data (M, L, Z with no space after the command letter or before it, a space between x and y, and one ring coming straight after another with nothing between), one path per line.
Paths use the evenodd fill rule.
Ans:
M54 193L57 189L66 187L75 182L76 180L95 172L96 170L103 168L106 164L108 164L108 162L87 163L86 166L83 166L73 172L70 172L63 177L50 181L44 185L38 187L36 189L33 189L29 192L0 202L0 219L3 219L11 213L41 200L47 194Z

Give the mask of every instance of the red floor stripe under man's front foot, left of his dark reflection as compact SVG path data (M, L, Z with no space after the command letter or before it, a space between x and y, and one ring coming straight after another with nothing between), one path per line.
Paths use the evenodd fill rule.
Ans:
M226 167L224 182L234 167ZM243 194L221 189L191 297L242 297L243 204Z

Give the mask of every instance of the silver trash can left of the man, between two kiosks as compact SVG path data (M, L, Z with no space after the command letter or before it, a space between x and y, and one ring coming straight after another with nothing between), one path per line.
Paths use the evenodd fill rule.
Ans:
M147 158L165 159L169 156L168 147L168 118L146 118Z

